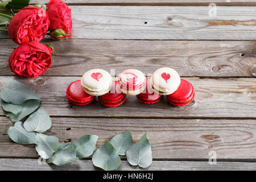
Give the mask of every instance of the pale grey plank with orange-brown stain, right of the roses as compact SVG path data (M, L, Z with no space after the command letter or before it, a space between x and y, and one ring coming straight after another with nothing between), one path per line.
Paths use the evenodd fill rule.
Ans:
M255 6L71 6L73 39L256 40ZM6 38L0 34L0 38Z

